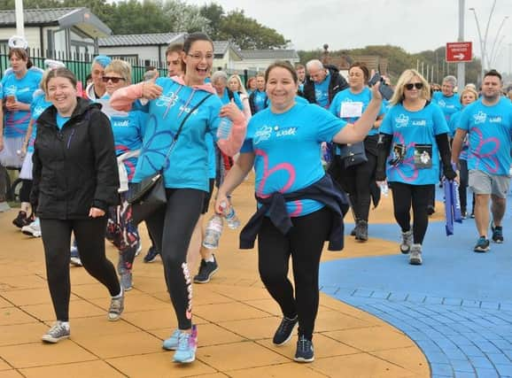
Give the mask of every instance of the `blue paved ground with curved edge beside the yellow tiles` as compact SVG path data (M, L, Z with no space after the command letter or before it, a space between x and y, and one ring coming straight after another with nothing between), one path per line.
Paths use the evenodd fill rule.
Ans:
M449 237L444 222L431 222L423 266L408 265L402 254L330 261L321 266L321 289L406 333L432 377L512 377L510 210L503 226L505 243L475 253L474 220L456 224ZM399 251L396 224L370 224L369 235L397 242Z

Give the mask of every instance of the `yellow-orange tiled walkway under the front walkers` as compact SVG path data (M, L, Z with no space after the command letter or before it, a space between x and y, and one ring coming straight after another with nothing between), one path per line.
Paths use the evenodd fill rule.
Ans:
M234 204L242 220L247 220L254 208L251 182L245 182L237 191ZM278 308L262 288L256 253L238 251L237 235L232 231L222 236L217 253L221 269L212 282L194 285L199 348L198 359L190 366L173 364L172 352L161 350L161 341L175 328L175 319L159 260L143 264L142 258L137 258L135 289L127 293L122 320L113 323L106 320L109 298L105 288L83 268L72 268L71 339L55 345L43 344L40 337L54 314L45 281L42 243L12 227L15 215L14 211L0 213L0 378L431 374L418 345L384 321L391 320L385 319L382 307L376 315L384 320L368 314L374 308L361 311L327 294L321 297L314 334L316 360L306 365L293 362L296 337L286 346L272 345L271 337L280 321ZM374 220L389 221L389 207L384 205L372 216ZM144 246L148 246L147 237ZM115 260L115 254L109 246L110 258ZM378 260L383 255L396 255L394 240L374 239L366 244L351 240L345 251L325 252L323 260L343 258L349 262L361 256L376 256ZM335 275L341 278L345 272ZM361 284L354 285L361 288ZM354 297L344 300L351 298Z

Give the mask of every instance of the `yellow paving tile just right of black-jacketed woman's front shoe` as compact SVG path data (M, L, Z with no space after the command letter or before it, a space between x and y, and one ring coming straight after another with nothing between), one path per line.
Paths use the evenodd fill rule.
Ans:
M90 338L91 330L94 329L95 336L119 335L128 332L138 332L139 328L129 324L125 320L109 321L105 314L90 318L71 319L71 335L74 340Z

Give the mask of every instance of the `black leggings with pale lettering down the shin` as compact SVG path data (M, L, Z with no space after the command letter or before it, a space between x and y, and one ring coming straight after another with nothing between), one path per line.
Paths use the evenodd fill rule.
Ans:
M178 328L192 327L192 281L187 266L192 232L198 223L206 192L166 189L167 205L146 220L164 263L167 291L175 307Z

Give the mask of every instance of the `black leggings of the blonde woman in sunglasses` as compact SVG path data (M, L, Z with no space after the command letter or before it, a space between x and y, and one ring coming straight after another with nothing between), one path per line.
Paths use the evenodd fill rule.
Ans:
M429 226L427 206L430 204L435 185L410 185L392 182L393 208L402 232L411 229L411 204L413 207L414 243L422 244Z

